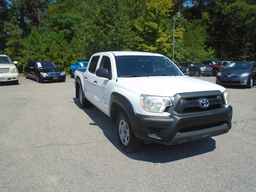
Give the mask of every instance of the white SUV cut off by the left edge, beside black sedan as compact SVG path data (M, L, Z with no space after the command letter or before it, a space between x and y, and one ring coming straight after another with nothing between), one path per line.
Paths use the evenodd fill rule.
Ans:
M18 84L19 73L14 64L17 61L11 61L5 54L0 54L0 81L12 81L13 84Z

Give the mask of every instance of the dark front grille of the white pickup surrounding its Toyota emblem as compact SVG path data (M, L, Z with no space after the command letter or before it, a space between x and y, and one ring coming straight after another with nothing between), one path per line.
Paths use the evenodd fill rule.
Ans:
M200 101L207 99L209 101L208 107L202 107ZM175 112L178 114L188 114L188 113L198 113L205 111L213 111L224 109L225 105L221 95L211 95L205 97L195 97L195 98L183 98L180 99L175 107Z

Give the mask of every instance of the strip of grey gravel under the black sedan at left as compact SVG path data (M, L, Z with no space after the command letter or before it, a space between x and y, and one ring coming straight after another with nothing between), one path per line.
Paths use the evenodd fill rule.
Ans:
M11 81L9 82L0 82L0 87L15 87L15 86L28 86L35 84L45 84L45 83L68 83L74 82L74 78L70 78L70 75L67 74L66 81L54 81L54 82L40 82L37 83L35 79L26 79L23 73L19 74L19 83L17 85L13 85Z

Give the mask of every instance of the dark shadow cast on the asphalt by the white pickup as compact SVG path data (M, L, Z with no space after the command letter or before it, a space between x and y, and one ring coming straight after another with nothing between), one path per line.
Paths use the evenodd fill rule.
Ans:
M78 99L73 98L73 100L74 103L80 108ZM93 125L99 126L105 137L121 153L134 160L151 163L167 163L201 155L216 149L215 140L213 138L206 138L203 140L178 145L164 145L157 143L150 143L147 145L143 144L140 151L128 154L123 152L120 148L116 138L116 124L110 120L109 116L107 116L94 105L91 105L89 108L82 110L93 120Z

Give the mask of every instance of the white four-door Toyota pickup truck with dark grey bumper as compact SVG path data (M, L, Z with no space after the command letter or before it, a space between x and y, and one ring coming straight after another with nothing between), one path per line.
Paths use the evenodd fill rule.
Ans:
M75 72L81 108L97 106L116 123L120 147L136 152L151 142L185 143L227 133L232 106L227 89L184 76L167 57L111 51L92 55Z

